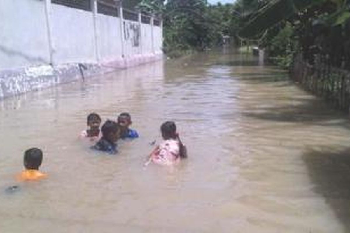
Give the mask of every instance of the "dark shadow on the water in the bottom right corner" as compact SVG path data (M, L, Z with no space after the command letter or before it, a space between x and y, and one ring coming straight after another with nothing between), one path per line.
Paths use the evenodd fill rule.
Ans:
M340 152L310 150L303 154L314 191L321 194L350 232L350 147Z

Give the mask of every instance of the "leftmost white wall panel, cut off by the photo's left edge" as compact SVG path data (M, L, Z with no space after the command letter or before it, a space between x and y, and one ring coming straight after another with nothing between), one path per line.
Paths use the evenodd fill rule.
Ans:
M0 70L48 64L45 4L0 0Z

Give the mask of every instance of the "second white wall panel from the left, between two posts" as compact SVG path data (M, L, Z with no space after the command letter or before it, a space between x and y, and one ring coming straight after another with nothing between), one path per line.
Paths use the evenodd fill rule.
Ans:
M92 12L51 4L51 25L55 64L97 62Z

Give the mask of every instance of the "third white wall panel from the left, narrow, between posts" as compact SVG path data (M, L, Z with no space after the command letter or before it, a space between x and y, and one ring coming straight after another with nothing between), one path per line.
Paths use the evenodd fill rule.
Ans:
M120 19L97 14L97 46L102 63L121 59Z

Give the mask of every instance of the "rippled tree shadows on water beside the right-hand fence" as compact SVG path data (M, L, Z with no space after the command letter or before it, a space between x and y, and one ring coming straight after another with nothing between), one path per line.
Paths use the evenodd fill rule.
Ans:
M240 80L249 84L272 84L274 87L285 88L273 95L267 95L273 98L273 103L281 104L263 105L265 102L262 102L256 109L243 112L244 116L276 122L339 125L350 129L346 114L328 102L308 94L295 93L294 89L288 88L294 86L294 82L286 72L276 70L266 74L245 73L240 74ZM262 95L260 99L268 97ZM259 96L256 98L259 99Z

